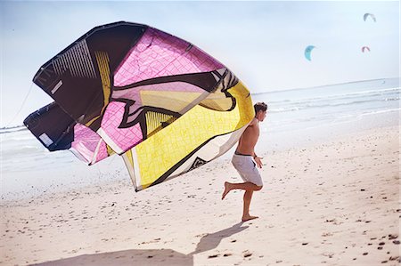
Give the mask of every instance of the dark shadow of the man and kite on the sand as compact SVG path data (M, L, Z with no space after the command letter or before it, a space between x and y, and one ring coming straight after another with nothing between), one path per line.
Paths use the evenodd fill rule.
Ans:
M207 234L201 238L195 250L190 254L182 254L172 249L128 249L110 253L83 254L76 257L34 265L193 265L193 255L216 248L223 238L246 230L243 222L234 224L225 230Z

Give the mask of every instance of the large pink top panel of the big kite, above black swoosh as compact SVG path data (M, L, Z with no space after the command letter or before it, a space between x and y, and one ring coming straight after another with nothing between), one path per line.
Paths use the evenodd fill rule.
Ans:
M209 72L224 68L198 47L155 28L148 28L114 75L115 86L154 77ZM191 48L191 49L189 49Z

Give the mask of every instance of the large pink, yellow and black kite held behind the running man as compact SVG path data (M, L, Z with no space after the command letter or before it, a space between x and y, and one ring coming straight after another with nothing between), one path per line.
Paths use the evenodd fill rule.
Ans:
M88 165L121 155L136 191L223 155L255 115L248 89L218 60L125 21L93 28L33 82L54 101L24 120L31 133Z

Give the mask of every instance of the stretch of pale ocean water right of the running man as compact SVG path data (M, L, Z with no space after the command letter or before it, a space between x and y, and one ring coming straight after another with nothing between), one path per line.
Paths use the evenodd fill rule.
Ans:
M268 114L261 145L282 149L325 141L344 133L399 125L399 78L258 93Z

